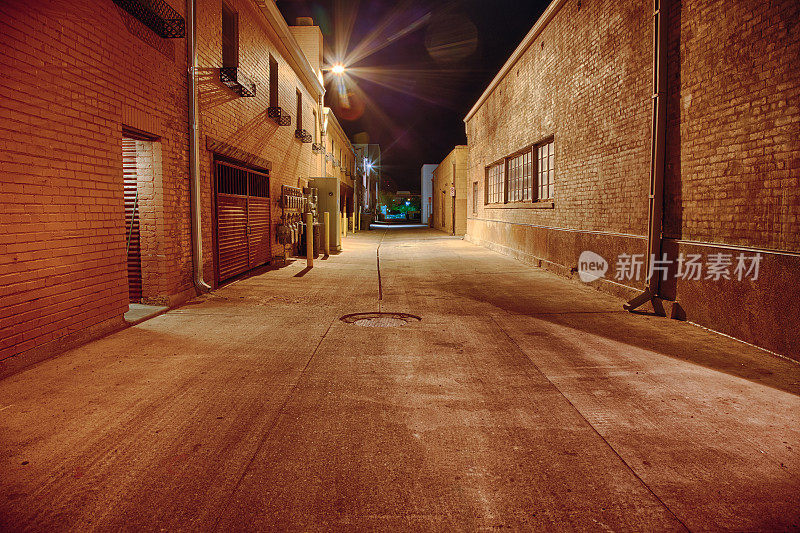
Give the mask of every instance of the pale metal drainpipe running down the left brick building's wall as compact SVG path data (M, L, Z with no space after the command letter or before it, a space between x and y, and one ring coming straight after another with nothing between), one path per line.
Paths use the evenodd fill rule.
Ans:
M189 31L186 46L189 55L189 178L192 222L192 263L194 265L194 286L203 293L211 286L203 279L203 235L202 210L200 206L200 106L197 101L197 14L196 0L187 0L186 18Z

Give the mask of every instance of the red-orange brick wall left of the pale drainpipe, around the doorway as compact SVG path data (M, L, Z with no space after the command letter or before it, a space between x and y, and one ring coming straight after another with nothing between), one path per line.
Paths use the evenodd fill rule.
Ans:
M0 5L0 359L121 325L123 126L161 138L152 291L189 286L185 72L183 39L110 0Z

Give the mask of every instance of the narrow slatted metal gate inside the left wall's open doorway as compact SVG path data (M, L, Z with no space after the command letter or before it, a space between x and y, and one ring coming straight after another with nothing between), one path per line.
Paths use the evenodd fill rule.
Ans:
M139 187L136 183L136 139L122 138L122 181L125 187L125 243L128 250L128 296L142 299L142 249L139 234Z

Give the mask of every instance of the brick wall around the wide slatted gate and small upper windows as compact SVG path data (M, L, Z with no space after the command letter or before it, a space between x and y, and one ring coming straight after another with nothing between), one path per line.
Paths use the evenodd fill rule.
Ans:
M273 255L282 254L283 247L275 240L275 225L280 222L279 196L282 185L303 186L309 177L320 172L320 156L313 154L310 143L301 143L294 136L297 127L296 90L303 94L303 128L313 131L312 109L319 109L317 96L298 79L284 58L266 26L264 16L252 2L228 2L239 18L239 68L256 85L255 98L241 98L219 81L222 66L222 2L199 0L198 62L199 99L201 115L201 175L204 195L203 241L204 275L214 280L212 187L213 154L205 149L206 136L222 141L239 150L264 158L272 163L270 172L271 214L273 221ZM291 126L278 126L267 116L269 107L269 54L278 62L278 104L292 117Z

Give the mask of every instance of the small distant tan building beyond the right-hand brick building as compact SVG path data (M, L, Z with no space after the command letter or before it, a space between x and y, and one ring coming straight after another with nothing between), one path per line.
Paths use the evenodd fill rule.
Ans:
M464 235L467 229L468 152L466 146L456 146L433 169L431 227L451 235Z

